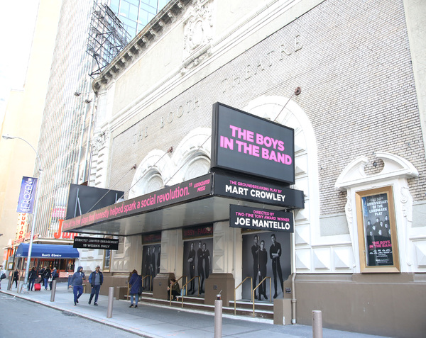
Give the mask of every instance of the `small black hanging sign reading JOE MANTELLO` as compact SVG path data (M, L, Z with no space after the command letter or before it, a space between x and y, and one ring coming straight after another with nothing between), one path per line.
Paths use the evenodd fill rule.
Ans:
M293 232L293 213L229 205L229 225L251 230Z

